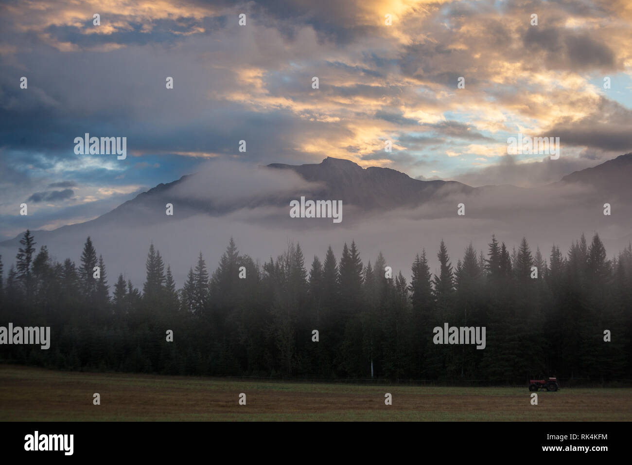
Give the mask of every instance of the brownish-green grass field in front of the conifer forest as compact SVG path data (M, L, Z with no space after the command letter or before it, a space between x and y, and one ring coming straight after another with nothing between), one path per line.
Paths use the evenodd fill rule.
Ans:
M92 404L100 394L101 404ZM246 405L240 406L240 393ZM392 405L384 394L392 394ZM0 421L630 421L632 390L411 387L76 373L0 365Z

